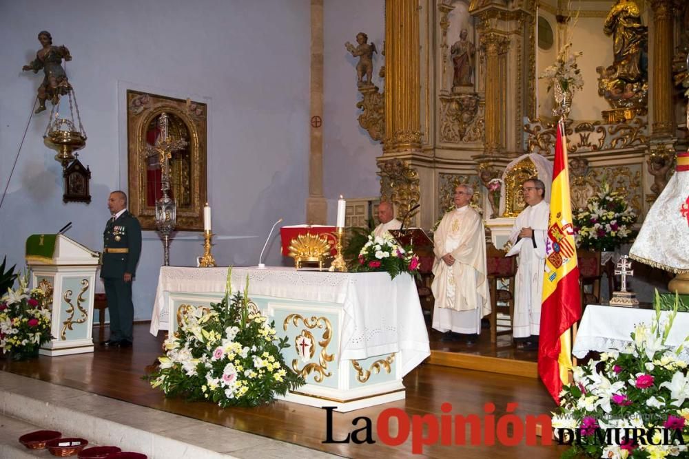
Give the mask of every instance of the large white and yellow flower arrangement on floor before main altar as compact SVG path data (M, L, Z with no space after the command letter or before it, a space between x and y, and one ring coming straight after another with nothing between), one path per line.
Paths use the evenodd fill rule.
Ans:
M178 330L165 340L165 356L148 376L166 396L254 407L305 383L280 353L289 348L287 337L276 339L274 323L251 303L249 278L243 293L230 296L231 275L232 268L220 303L181 306Z

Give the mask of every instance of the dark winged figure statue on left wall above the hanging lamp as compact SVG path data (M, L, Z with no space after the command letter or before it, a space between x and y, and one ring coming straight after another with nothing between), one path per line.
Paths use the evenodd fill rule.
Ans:
M39 32L39 42L43 47L36 53L36 58L24 65L21 70L33 70L34 74L43 69L45 78L39 86L39 107L35 113L45 110L45 100L50 99L52 105L59 102L60 96L64 96L72 87L67 80L67 74L62 67L62 60L71 61L70 50L65 46L53 46L50 32L42 30Z

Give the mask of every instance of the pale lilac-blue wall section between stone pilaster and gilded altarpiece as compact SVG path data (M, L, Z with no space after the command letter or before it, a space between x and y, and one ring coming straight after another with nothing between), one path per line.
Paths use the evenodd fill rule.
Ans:
M356 34L364 32L375 43L373 83L382 91L378 77L384 58L380 52L385 38L384 0L326 0L324 5L324 104L323 164L324 193L329 200L329 222L335 221L335 200L367 198L380 194L376 157L382 154L379 142L359 126L362 98L356 86L358 58L345 50L345 42L356 46ZM346 173L343 173L346 171Z

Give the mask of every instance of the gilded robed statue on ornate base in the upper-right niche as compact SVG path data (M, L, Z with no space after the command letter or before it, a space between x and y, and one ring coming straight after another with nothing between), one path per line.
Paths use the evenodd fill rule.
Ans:
M639 7L617 0L608 12L603 32L613 36L613 65L597 67L599 94L615 108L646 105L648 93L648 28L641 24Z

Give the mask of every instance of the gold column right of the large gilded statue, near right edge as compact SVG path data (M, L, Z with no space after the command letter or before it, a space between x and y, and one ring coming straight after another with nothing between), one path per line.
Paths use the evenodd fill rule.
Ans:
M652 137L675 134L675 105L672 102L673 0L651 0L653 10L653 125Z

